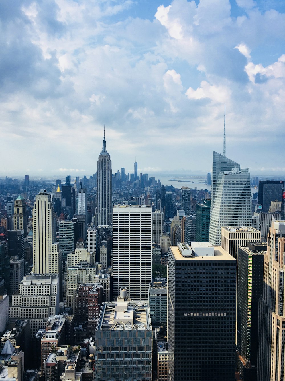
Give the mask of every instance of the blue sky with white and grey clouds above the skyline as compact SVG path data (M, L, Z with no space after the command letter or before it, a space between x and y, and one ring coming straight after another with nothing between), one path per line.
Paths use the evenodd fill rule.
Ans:
M285 174L283 0L3 0L0 176Z

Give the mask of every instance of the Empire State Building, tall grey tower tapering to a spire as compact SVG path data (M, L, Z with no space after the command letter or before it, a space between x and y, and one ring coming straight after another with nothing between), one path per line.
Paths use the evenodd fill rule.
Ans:
M106 149L105 128L103 149L97 162L97 213L95 224L112 224L112 163Z

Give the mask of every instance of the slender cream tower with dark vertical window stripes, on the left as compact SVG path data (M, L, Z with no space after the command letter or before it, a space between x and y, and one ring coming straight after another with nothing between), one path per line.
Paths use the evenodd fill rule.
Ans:
M61 252L55 243L55 214L51 195L36 195L33 208L33 272L62 275Z

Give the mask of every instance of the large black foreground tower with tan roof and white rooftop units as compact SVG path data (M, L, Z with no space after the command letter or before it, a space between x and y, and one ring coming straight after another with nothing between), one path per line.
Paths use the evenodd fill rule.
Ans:
M236 260L222 247L170 247L168 379L233 381Z

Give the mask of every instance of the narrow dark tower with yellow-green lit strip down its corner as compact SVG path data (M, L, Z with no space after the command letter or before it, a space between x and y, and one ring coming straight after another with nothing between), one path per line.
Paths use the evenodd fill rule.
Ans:
M263 293L266 243L238 248L237 369L243 381L257 381L258 301Z

